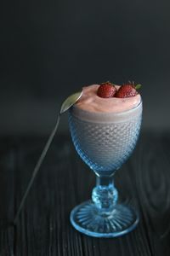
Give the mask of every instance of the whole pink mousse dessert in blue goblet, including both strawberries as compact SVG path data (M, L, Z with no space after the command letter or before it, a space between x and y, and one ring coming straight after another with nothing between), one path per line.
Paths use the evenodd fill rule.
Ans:
M71 211L71 224L88 236L122 236L139 222L132 207L117 203L113 183L113 174L133 152L139 137L142 101L138 87L110 82L86 86L70 109L72 141L97 175L92 200Z

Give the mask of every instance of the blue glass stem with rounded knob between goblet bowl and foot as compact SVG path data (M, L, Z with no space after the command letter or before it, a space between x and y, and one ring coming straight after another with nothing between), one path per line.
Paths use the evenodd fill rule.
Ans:
M96 187L92 192L92 201L99 210L111 212L118 200L118 193L113 183L113 176L97 176Z

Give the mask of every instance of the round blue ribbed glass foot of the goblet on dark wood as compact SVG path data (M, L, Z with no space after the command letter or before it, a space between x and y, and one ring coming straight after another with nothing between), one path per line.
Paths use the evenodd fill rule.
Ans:
M116 237L127 234L139 223L133 208L117 204L111 212L101 212L93 201L86 201L71 211L71 224L88 236Z

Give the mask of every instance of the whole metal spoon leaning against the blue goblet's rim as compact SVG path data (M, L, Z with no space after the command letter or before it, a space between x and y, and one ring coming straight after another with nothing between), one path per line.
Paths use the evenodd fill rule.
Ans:
M39 159L37 160L37 165L35 166L35 168L32 172L31 180L27 185L26 192L23 195L22 200L20 201L20 207L18 208L18 211L16 212L16 214L14 216L14 224L17 223L17 220L19 218L22 207L24 206L24 203L26 201L26 197L31 189L31 185L34 182L37 172L39 171L40 167L42 166L42 161L44 160L44 158L48 152L48 148L54 139L55 132L57 131L57 128L59 126L59 119L60 119L61 114L65 113L65 111L67 111L69 108L71 108L71 106L74 105L80 99L81 96L82 96L82 91L79 91L77 93L72 94L71 96L68 96L65 99L65 102L62 103L60 110L59 110L56 124L54 125L54 130L51 132L50 136L48 137L48 142L46 143L45 147L42 150L42 154L40 155Z

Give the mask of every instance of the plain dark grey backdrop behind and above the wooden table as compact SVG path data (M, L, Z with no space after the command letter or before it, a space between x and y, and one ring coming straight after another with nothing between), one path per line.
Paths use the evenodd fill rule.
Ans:
M168 0L1 5L2 135L48 134L66 96L105 80L143 84L144 129L170 128Z

